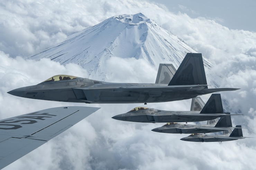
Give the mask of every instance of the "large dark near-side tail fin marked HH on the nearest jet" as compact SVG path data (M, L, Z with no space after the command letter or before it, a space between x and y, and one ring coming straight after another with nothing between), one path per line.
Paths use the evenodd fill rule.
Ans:
M197 84L207 84L202 54L187 53L168 86Z

